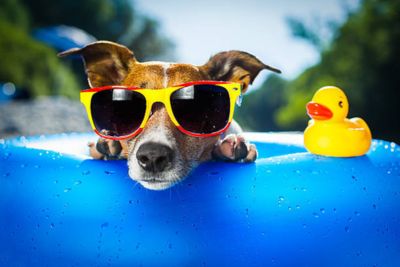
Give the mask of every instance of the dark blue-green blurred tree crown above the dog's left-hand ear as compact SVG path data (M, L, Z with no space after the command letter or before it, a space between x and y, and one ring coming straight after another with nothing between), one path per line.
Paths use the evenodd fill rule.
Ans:
M140 60L172 56L172 42L156 20L135 11L130 0L22 0L33 27L65 24L81 28L99 40L121 43Z

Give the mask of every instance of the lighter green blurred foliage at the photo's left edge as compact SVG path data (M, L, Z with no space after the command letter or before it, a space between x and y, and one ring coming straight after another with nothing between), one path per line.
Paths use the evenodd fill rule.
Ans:
M13 82L29 95L60 94L77 97L79 85L56 51L28 33L29 17L17 0L3 0L0 8L0 81Z

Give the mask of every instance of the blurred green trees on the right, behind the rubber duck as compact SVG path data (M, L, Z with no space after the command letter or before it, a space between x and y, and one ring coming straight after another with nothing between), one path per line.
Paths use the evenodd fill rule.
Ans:
M330 45L321 50L318 64L291 81L277 84L276 78L268 78L260 92L247 96L263 99L245 102L238 120L256 131L304 130L309 119L306 103L320 87L335 85L349 98L349 116L364 118L375 138L400 141L400 120L396 118L400 114L399 10L398 0L362 1L336 29ZM298 29L303 33L294 28L295 36L320 44L317 29L304 25ZM275 99L281 102L275 103ZM251 123L246 122L248 118Z

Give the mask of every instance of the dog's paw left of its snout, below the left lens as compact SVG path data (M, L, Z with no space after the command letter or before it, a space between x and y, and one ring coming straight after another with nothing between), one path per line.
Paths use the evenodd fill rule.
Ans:
M126 144L123 141L114 141L104 138L99 138L97 143L88 143L89 154L94 159L123 159L127 158Z

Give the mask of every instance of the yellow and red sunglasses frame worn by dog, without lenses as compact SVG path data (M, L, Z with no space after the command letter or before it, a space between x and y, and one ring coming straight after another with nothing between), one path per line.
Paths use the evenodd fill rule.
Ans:
M227 92L229 94L229 100L230 100L229 119L228 119L227 125L223 129L218 130L213 133L207 133L207 134L193 133L188 130L185 130L179 124L179 122L176 120L175 115L172 111L170 96L175 91L185 88L185 87L192 86L192 85L217 85L217 86L223 87L227 90ZM146 100L146 110L145 110L145 114L143 116L143 121L140 124L139 128L131 134L124 135L124 136L108 136L96 129L96 126L94 124L93 117L92 117L92 111L91 111L92 97L97 92L104 91L104 90L112 90L112 89L124 89L124 90L135 91L135 92L138 92L141 95L143 95L143 97ZM153 107L153 104L157 103L157 102L164 104L171 121L181 132L183 132L187 135L190 135L190 136L195 136L195 137L210 137L210 136L219 135L228 129L228 127L233 119L235 103L236 103L238 97L241 96L241 91L242 91L241 89L242 89L242 86L240 83L225 82L225 81L195 81L195 82L185 83L185 84L181 84L181 85L177 85L177 86L173 86L173 87L162 88L162 89L142 89L142 88L138 88L138 87L130 87L130 86L123 86L123 85L110 85L110 86L96 87L96 88L82 90L80 92L80 99L81 99L82 104L86 108L88 119L89 119L90 125L92 126L94 132L96 134L98 134L100 137L105 138L105 139L123 140L123 139L129 139L129 138L132 138L132 137L138 135L143 130L147 121L150 118L151 109Z

